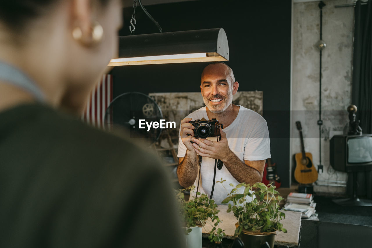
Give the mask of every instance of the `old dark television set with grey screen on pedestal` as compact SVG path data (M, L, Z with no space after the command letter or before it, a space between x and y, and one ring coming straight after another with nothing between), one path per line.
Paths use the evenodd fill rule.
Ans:
M335 135L330 140L330 164L336 171L372 169L372 134Z

